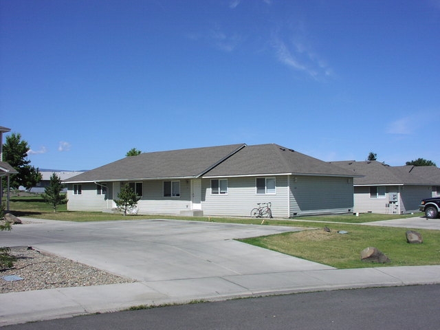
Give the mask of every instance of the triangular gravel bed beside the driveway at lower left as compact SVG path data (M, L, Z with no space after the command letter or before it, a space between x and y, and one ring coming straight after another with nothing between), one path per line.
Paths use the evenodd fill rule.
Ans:
M34 250L11 248L17 261L8 270L0 270L0 294L57 287L84 287L117 283L133 283L130 278L109 274L97 268ZM19 281L6 281L4 276L19 276ZM8 278L8 277L7 277Z

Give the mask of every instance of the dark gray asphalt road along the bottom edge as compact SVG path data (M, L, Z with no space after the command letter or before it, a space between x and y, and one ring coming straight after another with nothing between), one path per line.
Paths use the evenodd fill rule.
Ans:
M43 329L439 329L440 285L350 289L157 307L4 327Z

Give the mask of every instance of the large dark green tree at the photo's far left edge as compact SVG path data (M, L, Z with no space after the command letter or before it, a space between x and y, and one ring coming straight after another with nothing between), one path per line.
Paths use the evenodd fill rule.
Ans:
M6 142L3 144L3 162L8 162L18 172L17 175L10 177L11 188L19 188L19 186L32 188L30 184L41 181L38 168L30 166L30 160L26 159L29 150L28 142L21 140L20 133L12 133L6 137Z

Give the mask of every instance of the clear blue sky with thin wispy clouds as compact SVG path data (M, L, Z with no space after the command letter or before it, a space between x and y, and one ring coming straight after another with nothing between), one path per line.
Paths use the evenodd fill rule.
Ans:
M0 0L0 126L39 168L236 143L440 166L439 35L440 0Z

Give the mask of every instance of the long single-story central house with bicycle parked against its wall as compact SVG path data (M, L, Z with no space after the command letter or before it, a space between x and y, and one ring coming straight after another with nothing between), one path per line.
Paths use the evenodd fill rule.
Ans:
M140 214L274 217L353 212L353 174L277 144L232 144L142 153L65 180L68 210L111 212L123 184Z

